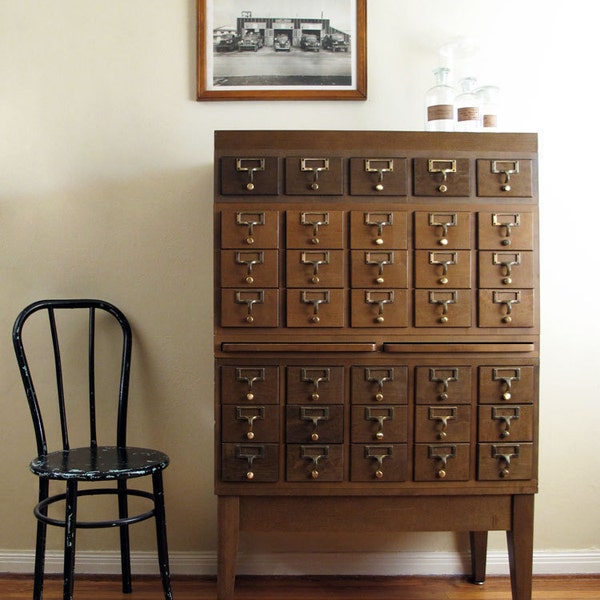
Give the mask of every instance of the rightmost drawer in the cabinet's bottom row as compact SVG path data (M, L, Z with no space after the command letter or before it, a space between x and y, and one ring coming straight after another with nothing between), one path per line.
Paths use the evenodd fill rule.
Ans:
M479 444L478 479L505 481L533 477L533 444Z

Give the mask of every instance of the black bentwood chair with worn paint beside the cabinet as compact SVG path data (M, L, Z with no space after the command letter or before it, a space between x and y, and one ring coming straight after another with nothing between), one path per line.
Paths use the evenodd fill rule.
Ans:
M77 309L77 310L75 310ZM28 363L25 348L23 344L23 327L25 322L34 313L42 311L47 313L49 334L51 343L48 345L47 356L40 352L38 348L34 351L29 349L29 360L36 364L37 368L42 369L42 363L53 363L55 376L50 371L50 377L56 380L56 391L58 399L58 419L56 424L60 429L59 438L62 438L62 449L50 451L48 447L46 429L42 421L41 402L38 399L36 389L33 385L32 373L30 364ZM82 315L83 313L83 315ZM118 322L116 323L106 316L112 315ZM83 320L74 319L76 315L83 316ZM67 323L69 319L74 319L76 323ZM39 319L32 319L38 321ZM41 319L43 322L45 319ZM102 325L102 331L96 332L98 321L98 329ZM78 353L76 362L81 363L82 367L87 370L87 375L81 384L84 393L75 394L66 393L65 379L67 371L72 371L71 364L65 362L63 369L63 361L61 360L61 347L59 345L59 335L57 323L61 325L61 333L64 330L69 331L68 344L64 339L61 341L63 350L71 350L75 348ZM67 325L71 327L67 329ZM39 323L29 322L26 328L27 334L33 335L34 325L39 327ZM64 326L64 327L63 327ZM77 327L79 326L79 327ZM112 329L111 329L112 326ZM106 331L105 331L106 330ZM36 329L36 332L38 330ZM72 341L73 332L81 332L84 338L81 347L74 346ZM115 334L115 331L118 333ZM100 404L100 395L96 392L96 379L106 377L106 369L100 372L96 368L96 355L100 354L99 347L102 341L102 349L106 340L111 340L111 335L118 335L118 346L120 347L120 366L119 357L113 361L116 364L117 372L120 373L118 381L118 405L114 410L114 405L111 406L112 412L116 417L116 440L114 445L100 446L98 445L97 436L97 404ZM65 336L66 337L66 336ZM39 334L36 333L35 340L39 339ZM122 340L122 344L121 344ZM37 441L38 456L31 461L31 471L39 478L39 502L34 508L34 514L38 519L37 525L37 543L35 555L35 579L34 579L34 600L41 600L44 580L44 555L46 548L46 527L47 525L55 525L64 527L65 529L65 548L64 548L64 591L63 599L72 600L73 598L73 571L75 566L75 533L78 528L100 528L100 527L118 527L121 538L121 568L123 577L123 592L131 592L131 564L129 552L129 525L144 521L154 517L156 523L156 537L158 542L158 562L160 574L162 578L162 586L166 600L172 599L171 583L169 575L169 557L167 549L166 521L164 494L162 483L162 472L169 464L169 457L157 450L147 448L133 448L126 445L126 428L127 428L127 399L129 392L129 372L131 364L131 327L125 315L115 306L102 300L41 300L35 302L25 308L17 317L13 328L13 344L17 355L17 362L21 371L21 377L27 394L27 401L33 418L33 426ZM33 345L33 341L32 341ZM51 348L51 350L50 350ZM80 348L78 350L78 348ZM117 348L119 351L119 348ZM66 352L65 352L66 354ZM87 354L87 356L86 356ZM114 352L113 352L114 356ZM110 353L108 354L110 362ZM41 361L41 363L40 363ZM72 361L71 361L72 362ZM99 361L98 361L99 362ZM52 369L52 367L51 367ZM69 373L73 375L73 373ZM71 378L69 377L69 381ZM38 381L38 379L36 379ZM51 386L54 388L54 384ZM87 393L85 388L87 387ZM100 386L99 386L100 387ZM115 383L115 390L117 385ZM69 388L71 390L71 388ZM54 396L55 392L52 392ZM85 435L85 443L88 441L88 434L84 432L84 427L80 426L81 419L85 419L85 412L89 413L89 444L81 447L71 447L69 442L69 433L67 430L67 406L72 409L80 408L81 402L78 400L80 396L87 396L85 399L86 408L84 413L79 412L77 417L77 428L72 429L71 433L75 436L78 433ZM40 396L41 399L42 396ZM56 399L52 401L54 404ZM111 402L111 404L113 404ZM79 405L79 406L76 406ZM100 425L100 411L98 411L98 423ZM48 423L49 424L49 423ZM110 427L112 430L112 426ZM112 436L112 434L111 434ZM152 493L144 490L128 489L127 482L129 479L138 477L152 477ZM66 485L66 493L50 495L50 481L62 481ZM78 484L85 482L86 484L94 482L116 482L116 487L86 487L86 489L78 489ZM118 499L118 518L109 521L78 521L77 520L77 503L82 496L115 494ZM145 499L150 499L153 503L151 510L130 516L128 512L128 497L137 496ZM64 502L65 513L64 519L52 518L49 516L48 508L55 502ZM144 502L144 501L142 501ZM61 515L62 516L62 515Z

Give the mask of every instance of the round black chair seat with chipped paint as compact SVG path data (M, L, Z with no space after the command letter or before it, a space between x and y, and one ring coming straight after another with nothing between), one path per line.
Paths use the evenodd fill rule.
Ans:
M144 477L165 469L169 457L158 450L128 446L72 448L51 452L31 461L31 471L48 479L107 481Z

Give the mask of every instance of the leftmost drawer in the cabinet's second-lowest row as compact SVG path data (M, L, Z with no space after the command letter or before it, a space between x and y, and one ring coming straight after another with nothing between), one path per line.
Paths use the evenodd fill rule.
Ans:
M224 442L279 441L279 407L274 404L224 404L221 414Z

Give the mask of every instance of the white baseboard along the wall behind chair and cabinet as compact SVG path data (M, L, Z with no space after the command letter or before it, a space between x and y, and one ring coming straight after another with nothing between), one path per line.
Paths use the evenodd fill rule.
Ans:
M132 571L139 575L158 572L156 554L133 552ZM241 575L460 575L469 572L468 553L382 552L382 553L273 553L240 554L237 572ZM217 572L214 552L171 552L171 572L175 575L211 576ZM118 552L86 552L77 555L78 573L116 574L120 572ZM1 573L31 573L33 552L0 551ZM62 553L49 551L46 572L62 571ZM534 552L536 575L600 574L600 550ZM490 551L488 575L507 575L506 552Z

